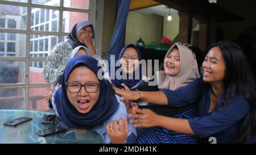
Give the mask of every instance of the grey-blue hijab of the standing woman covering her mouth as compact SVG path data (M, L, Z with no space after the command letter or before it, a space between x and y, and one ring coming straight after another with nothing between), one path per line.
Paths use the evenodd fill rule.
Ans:
M79 42L79 40L77 39L77 34L79 33L80 30L82 30L82 28L84 27L88 27L91 26L92 30L93 30L93 38L94 38L94 28L93 28L93 24L88 22L88 21L82 21L79 23L76 23L75 26L72 28L71 32L69 33L67 39L69 41L69 43L71 44L71 47L74 49L78 46L84 46L86 47L85 44L81 44Z

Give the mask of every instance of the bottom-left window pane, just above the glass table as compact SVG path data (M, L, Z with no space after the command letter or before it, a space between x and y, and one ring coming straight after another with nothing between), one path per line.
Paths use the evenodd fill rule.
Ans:
M24 110L25 89L0 89L0 109Z

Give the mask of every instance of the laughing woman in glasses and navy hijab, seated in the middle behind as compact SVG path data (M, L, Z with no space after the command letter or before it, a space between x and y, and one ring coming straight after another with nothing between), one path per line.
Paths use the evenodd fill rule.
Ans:
M112 85L119 89L127 87L129 90L141 90L143 87L147 87L149 78L142 75L142 65L139 64L140 60L141 52L139 49L134 44L127 44L118 55L118 66L115 66L114 77L111 69L106 77L110 79ZM147 104L141 100L136 102L138 104ZM126 100L126 105L128 104L130 104L130 101ZM137 104L134 105L137 107ZM133 134L127 138L127 143L134 143L137 133L133 124L129 123L129 128L133 131Z

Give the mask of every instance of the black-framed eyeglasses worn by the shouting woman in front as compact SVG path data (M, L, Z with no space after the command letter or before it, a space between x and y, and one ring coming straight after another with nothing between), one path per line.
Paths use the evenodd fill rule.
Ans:
M78 93L82 87L88 92L88 93L95 93L98 90L98 86L100 83L94 83L94 82L87 82L84 85L80 84L79 82L71 82L71 83L65 83L68 91L70 93Z

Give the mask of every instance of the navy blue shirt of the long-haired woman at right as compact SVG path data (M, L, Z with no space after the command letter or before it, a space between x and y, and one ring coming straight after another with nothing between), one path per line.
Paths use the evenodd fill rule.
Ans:
M199 117L189 119L189 125L197 136L215 137L217 143L235 143L240 133L241 123L250 104L240 94L235 94L224 108L224 96L220 97L215 110L209 112L212 86L203 78L195 79L187 86L174 91L163 89L168 105L180 107L200 102Z

